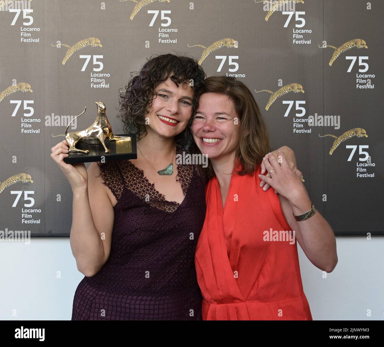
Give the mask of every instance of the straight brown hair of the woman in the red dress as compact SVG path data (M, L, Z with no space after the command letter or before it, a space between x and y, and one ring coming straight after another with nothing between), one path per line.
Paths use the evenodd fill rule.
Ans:
M203 86L197 90L197 99L204 93L223 94L232 100L240 126L239 146L235 156L242 168L238 169L237 173L240 175L253 174L262 162L263 156L269 153L271 148L266 124L252 92L235 77L212 76L205 79ZM210 161L207 175L209 178L215 176Z

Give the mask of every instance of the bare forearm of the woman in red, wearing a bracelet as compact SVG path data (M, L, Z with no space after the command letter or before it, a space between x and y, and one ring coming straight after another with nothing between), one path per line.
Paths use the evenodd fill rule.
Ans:
M295 215L305 213L312 206L308 196L295 203L290 201L290 204ZM331 272L338 262L336 238L331 226L317 210L313 216L297 222L297 225L307 257L318 268Z

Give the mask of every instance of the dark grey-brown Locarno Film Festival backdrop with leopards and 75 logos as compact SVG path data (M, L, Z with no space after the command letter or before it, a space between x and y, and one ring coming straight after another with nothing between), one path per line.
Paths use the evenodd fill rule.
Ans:
M17 4L18 3L18 4ZM152 54L186 54L252 91L336 235L384 234L381 0L0 1L0 230L68 236L51 147L107 107ZM88 164L87 164L88 165Z

